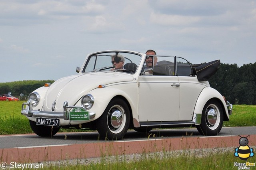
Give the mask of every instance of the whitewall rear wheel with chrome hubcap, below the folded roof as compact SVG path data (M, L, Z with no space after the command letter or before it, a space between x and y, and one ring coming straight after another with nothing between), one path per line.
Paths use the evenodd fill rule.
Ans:
M223 125L223 111L220 103L210 100L204 105L201 124L196 126L202 135L217 135Z

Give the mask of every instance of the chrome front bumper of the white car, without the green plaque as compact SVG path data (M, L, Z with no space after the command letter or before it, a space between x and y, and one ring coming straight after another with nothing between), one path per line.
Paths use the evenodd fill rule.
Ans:
M24 108L24 106L26 106ZM64 120L70 120L69 119L69 108L80 108L86 110L82 106L68 106L68 102L63 103L63 113L62 112L46 112L46 111L34 111L32 108L32 100L29 99L27 103L22 103L22 109L21 114L26 115L27 117L45 117L45 118L58 118L58 119L64 119ZM94 112L89 112L90 119L93 119L95 117Z

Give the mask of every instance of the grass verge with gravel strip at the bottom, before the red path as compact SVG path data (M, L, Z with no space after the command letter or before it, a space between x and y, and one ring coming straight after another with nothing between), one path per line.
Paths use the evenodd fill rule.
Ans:
M255 162L251 157L248 162ZM102 156L98 160L64 160L50 162L44 169L52 170L215 170L238 169L234 162L245 162L234 156L233 148L180 150L143 153L133 156ZM254 167L253 167L254 168Z

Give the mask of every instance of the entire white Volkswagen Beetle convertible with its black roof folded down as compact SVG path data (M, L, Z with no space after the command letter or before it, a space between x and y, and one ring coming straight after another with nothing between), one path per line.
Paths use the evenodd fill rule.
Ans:
M208 83L219 64L191 65L182 57L126 50L92 53L78 74L33 91L21 114L39 136L85 128L118 140L128 128L191 126L216 135L232 113L232 104Z

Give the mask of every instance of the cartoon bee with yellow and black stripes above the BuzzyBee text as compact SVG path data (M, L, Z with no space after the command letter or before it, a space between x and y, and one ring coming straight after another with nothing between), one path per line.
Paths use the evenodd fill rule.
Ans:
M240 139L239 139L240 146L238 148L235 148L236 152L234 152L234 155L236 157L239 157L240 159L246 160L246 161L249 157L254 156L254 152L252 152L253 149L248 146L248 143L249 143L249 140L247 138L248 136L246 137L240 136Z

